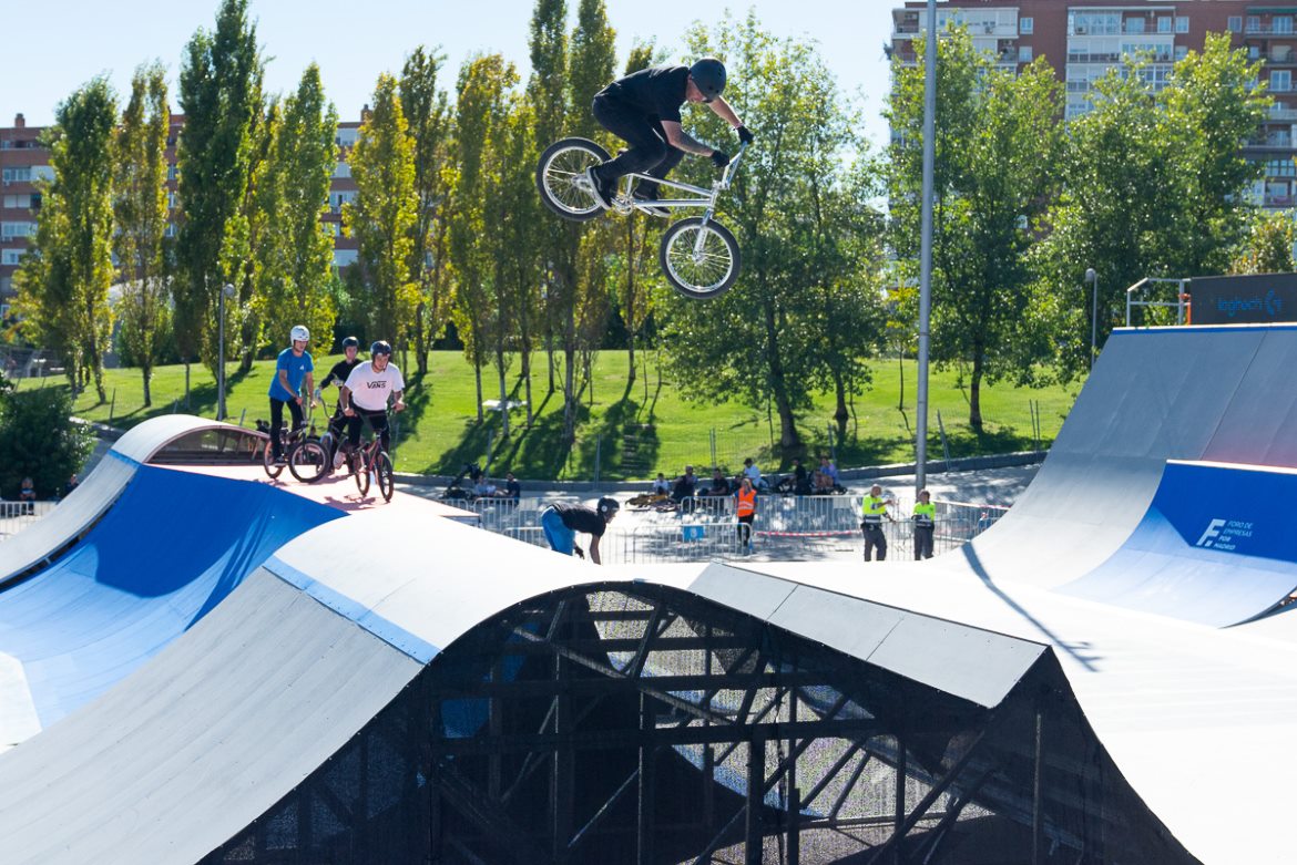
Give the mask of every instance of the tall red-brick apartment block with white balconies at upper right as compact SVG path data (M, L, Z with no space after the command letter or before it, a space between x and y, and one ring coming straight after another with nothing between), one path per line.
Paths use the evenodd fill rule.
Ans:
M926 3L912 0L892 10L888 52L914 63L913 40L926 27ZM1244 146L1248 159L1265 167L1252 198L1265 207L1287 208L1297 197L1297 4L1244 0L1178 0L1096 4L1066 0L995 3L962 0L938 5L938 30L947 22L969 28L973 43L1003 69L1021 69L1038 57L1054 69L1066 92L1066 119L1089 109L1093 83L1126 54L1145 53L1144 75L1161 88L1175 61L1202 47L1209 32L1227 32L1253 60L1265 61L1261 79L1275 97L1270 117Z

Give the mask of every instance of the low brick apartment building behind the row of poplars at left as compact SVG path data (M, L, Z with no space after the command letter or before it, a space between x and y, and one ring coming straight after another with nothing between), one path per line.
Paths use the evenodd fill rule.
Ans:
M171 117L167 133L167 203L173 214L176 202L175 145L184 127L184 117ZM342 205L355 198L355 181L346 163L346 154L355 144L361 122L337 124L335 141L341 148L341 157L333 170L329 183L328 212L322 216L324 230L333 236L333 263L346 267L355 262L357 242L342 237ZM36 233L36 219L40 216L39 180L52 180L49 150L40 146L42 127L29 127L18 114L12 127L0 127L0 317L8 313L8 302L13 297L13 273L27 251L27 238ZM167 236L175 234L175 225L167 227Z

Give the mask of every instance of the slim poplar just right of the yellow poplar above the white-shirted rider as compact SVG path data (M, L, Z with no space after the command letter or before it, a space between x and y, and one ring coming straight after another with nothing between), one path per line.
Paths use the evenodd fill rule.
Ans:
M418 286L411 338L419 374L428 372L432 342L446 326L453 282L446 267L450 227L446 162L450 148L450 107L437 89L445 56L415 48L401 70L401 107L414 141L414 188L419 197L410 247L410 273Z

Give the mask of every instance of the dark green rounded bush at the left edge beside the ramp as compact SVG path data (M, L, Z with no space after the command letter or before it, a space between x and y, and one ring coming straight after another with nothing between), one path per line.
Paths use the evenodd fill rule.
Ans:
M17 499L27 477L40 499L62 493L95 449L95 434L71 413L64 387L0 392L0 496Z

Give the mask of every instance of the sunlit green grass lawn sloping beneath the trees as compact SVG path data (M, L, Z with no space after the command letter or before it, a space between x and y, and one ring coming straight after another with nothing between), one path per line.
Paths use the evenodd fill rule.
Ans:
M638 360L639 357L637 357ZM316 359L320 377L336 357ZM233 365L231 364L231 369ZM514 399L523 399L515 361L510 376ZM743 457L752 456L763 470L781 467L772 444L778 440L778 418L768 418L765 409L729 404L700 404L681 399L669 381L659 381L656 368L648 361L634 383L628 383L626 355L621 351L599 352L594 382L581 394L581 416L575 447L562 442L562 391L549 392L545 355L537 355L532 379L536 420L525 430L527 416L511 414L512 430L501 435L501 418L488 412L477 422L472 368L459 352L433 352L427 377L409 382L410 410L399 417L396 464L399 471L425 474L454 473L464 462L492 456L492 473L512 469L521 478L591 479L598 465L603 479L646 478L658 471L678 474L691 462L699 469L716 462L728 471L742 467ZM274 361L258 361L244 374L228 378L230 420L253 426L257 418L268 417L267 390ZM874 366L873 387L856 398L855 418L847 435L835 442L838 465L842 467L886 462L912 462L914 425L914 364L904 364L905 408L900 400L901 365L895 360ZM556 379L560 383L560 379ZM61 387L64 379L25 382L23 387ZM77 414L93 421L128 427L134 423L173 410L188 410L205 417L215 416L217 388L213 376L202 366L192 366L189 407L184 404L184 366L163 366L153 376L153 405L143 405L143 385L137 369L113 369L106 373L108 403L99 403L93 391L82 394ZM938 434L940 412L949 443L951 457L1031 449L1036 447L1031 425L1031 401L1039 404L1040 444L1053 442L1062 420L1075 400L1079 386L1049 388L1014 388L1008 385L982 387L984 429L974 434L968 426L966 392L957 383L953 370L935 372L930 379L929 457L943 456ZM498 398L493 373L486 370L484 399ZM336 401L336 390L327 394ZM812 410L798 418L807 443L807 453L826 449L831 425L833 398L821 395ZM782 461L787 466L787 461Z

